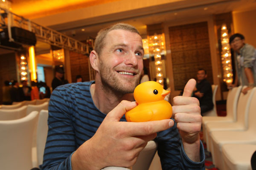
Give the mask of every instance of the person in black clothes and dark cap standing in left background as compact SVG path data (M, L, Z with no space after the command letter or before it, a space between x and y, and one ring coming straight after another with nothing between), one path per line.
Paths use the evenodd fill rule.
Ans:
M64 68L63 65L57 65L55 66L55 77L52 79L52 91L60 86L64 85Z

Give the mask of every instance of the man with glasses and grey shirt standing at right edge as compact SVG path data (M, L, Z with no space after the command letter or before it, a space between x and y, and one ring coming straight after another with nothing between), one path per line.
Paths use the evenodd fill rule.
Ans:
M230 46L235 51L236 79L233 86L248 86L242 90L246 94L256 85L256 49L244 42L242 34L233 34Z

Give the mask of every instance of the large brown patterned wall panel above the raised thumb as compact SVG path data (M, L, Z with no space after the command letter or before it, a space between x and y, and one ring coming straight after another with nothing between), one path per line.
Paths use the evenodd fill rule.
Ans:
M212 80L212 65L207 22L169 27L175 90L183 90L186 82L196 78L199 68Z

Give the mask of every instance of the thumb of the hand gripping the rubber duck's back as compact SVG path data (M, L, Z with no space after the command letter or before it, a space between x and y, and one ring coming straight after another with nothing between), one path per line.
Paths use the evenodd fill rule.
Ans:
M112 111L110 111L105 119L113 120L119 122L122 116L132 108L137 106L137 102L129 102L127 100L122 100Z

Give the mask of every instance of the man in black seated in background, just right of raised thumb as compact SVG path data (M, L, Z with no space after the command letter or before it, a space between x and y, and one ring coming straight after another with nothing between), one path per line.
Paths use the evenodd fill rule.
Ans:
M212 110L212 86L207 81L207 73L204 69L199 69L197 72L197 83L194 89L193 97L196 97L199 100L201 115L204 116L204 113Z

